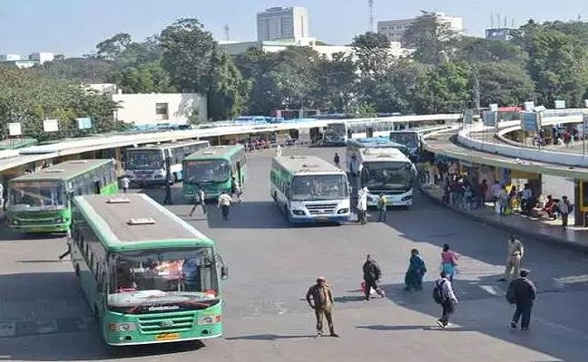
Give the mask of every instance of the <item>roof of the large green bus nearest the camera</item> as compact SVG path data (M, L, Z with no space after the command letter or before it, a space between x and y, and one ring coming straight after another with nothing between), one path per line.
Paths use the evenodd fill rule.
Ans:
M81 195L73 202L109 251L213 245L144 194Z

